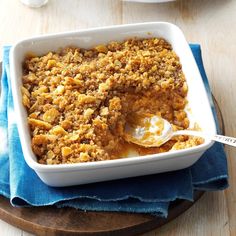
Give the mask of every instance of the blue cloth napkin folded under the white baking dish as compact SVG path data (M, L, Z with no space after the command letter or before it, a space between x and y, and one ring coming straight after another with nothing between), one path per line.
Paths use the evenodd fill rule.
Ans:
M200 46L190 46L215 113ZM13 206L56 205L83 210L152 213L167 217L171 201L193 200L193 191L196 189L214 191L228 186L226 156L219 143L215 143L192 167L179 171L74 187L53 188L45 185L25 163L22 154L11 94L9 50L10 47L3 48L0 194L9 198Z

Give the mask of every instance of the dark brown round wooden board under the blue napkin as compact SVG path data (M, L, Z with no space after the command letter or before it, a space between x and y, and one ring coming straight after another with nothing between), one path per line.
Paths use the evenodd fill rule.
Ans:
M215 99L214 103L224 133L223 117ZM0 219L37 235L137 235L173 220L190 208L203 193L195 191L194 202L177 200L171 203L167 219L150 214L84 212L53 206L16 208L9 199L0 196Z

